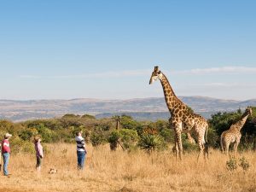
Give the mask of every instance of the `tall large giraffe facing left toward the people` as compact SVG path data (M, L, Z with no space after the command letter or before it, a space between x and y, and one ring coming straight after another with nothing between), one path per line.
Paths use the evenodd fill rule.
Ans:
M160 79L166 98L166 105L171 113L169 122L175 131L176 157L180 160L183 159L182 131L195 131L195 136L197 137L197 142L200 148L200 153L198 154L197 159L199 159L202 153L206 158L208 151L206 143L208 128L207 120L199 114L190 112L187 106L177 98L168 79L166 79L166 76L160 72L159 67L154 67L149 84L152 84L157 79Z

